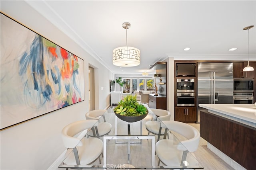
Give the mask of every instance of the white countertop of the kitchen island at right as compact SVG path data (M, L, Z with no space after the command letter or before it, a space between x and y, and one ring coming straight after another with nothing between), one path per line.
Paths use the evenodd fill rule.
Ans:
M209 112L216 111L256 123L256 106L254 104L199 104L199 107L208 109Z

